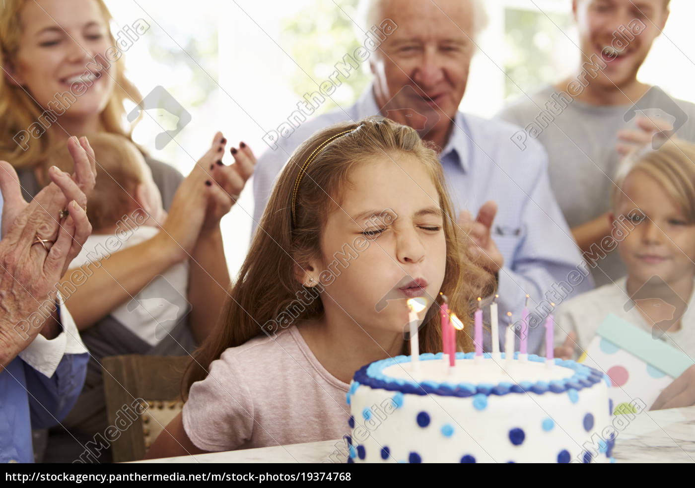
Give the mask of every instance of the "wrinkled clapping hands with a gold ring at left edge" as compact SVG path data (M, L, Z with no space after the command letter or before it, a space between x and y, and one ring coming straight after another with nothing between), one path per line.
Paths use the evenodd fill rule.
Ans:
M92 232L84 207L96 181L94 152L86 138L71 138L68 147L74 174L51 168L51 184L31 203L22 197L15 169L0 161L0 366L24 350L50 321L56 300L51 291Z

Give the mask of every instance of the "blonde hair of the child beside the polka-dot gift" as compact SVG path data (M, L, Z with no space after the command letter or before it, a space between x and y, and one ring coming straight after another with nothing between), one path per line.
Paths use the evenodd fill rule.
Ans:
M695 145L671 139L662 147L637 152L626 158L612 186L611 204L616 211L623 199L628 175L643 171L659 182L666 193L680 205L690 223L695 223Z

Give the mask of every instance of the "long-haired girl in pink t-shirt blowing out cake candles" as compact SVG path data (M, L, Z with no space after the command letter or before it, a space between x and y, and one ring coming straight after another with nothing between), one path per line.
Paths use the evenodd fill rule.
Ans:
M338 439L361 366L409 354L407 300L420 352L442 348L439 300L464 317L484 272L455 232L436 153L381 117L306 140L281 173L215 333L184 380L183 412L147 457ZM489 284L486 284L489 286Z

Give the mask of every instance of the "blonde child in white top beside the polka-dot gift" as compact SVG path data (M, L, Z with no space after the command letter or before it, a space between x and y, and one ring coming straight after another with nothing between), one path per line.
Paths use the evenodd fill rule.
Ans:
M579 355L614 314L695 357L695 311L688 307L695 279L695 145L671 140L629 158L616 177L610 220L621 222L615 238L628 274L559 307L555 335L566 339L555 355ZM683 384L676 381L678 391L665 389L653 407L673 406L669 399Z

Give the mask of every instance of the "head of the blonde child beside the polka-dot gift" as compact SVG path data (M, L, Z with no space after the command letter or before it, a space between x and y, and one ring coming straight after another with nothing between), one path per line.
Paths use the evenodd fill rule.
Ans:
M616 177L611 220L628 277L666 284L695 275L695 145L671 140L629 158Z

